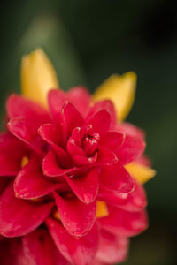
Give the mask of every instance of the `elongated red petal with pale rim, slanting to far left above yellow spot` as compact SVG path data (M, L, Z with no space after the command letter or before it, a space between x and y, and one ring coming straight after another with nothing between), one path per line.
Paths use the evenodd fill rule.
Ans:
M38 155L43 155L43 140L37 133L36 126L23 117L14 117L8 123L8 128L13 135L27 144Z

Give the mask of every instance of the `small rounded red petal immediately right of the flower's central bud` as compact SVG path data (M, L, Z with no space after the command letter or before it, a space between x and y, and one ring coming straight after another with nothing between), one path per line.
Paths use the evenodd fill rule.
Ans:
M125 134L108 131L101 137L100 144L104 146L104 148L115 151L123 145L124 140Z

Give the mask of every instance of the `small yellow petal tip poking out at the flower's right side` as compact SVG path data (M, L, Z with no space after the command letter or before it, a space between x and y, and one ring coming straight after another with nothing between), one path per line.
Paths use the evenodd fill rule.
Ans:
M126 169L141 184L156 175L156 170L150 169L150 167L141 163L128 163Z

